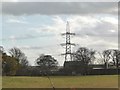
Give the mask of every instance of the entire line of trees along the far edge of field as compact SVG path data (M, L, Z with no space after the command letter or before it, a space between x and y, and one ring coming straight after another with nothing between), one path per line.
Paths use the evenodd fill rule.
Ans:
M9 54L5 51L0 51L2 54L2 74L3 75L16 75L21 70L27 70L30 67L27 56L19 48L11 48ZM102 53L98 53L100 59L95 56L98 53L96 50L88 49L86 47L80 47L73 54L73 61L80 63L73 65L74 70L79 69L81 72L85 72L93 64L95 60L103 62L104 68L107 69L109 65L119 68L120 65L120 51L117 49L107 49ZM52 70L58 70L58 61L51 55L41 54L35 60L36 67L39 67L38 73L50 72ZM78 65L78 66L77 66ZM26 72L26 71L25 71ZM35 71L36 72L36 71ZM87 72L87 71L86 71ZM30 71L28 71L30 73ZM34 73L34 72L33 72Z

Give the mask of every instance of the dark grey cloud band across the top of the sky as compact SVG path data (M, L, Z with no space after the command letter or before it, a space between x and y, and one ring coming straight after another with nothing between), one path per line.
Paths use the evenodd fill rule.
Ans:
M117 14L117 2L3 2L2 13L10 15Z

